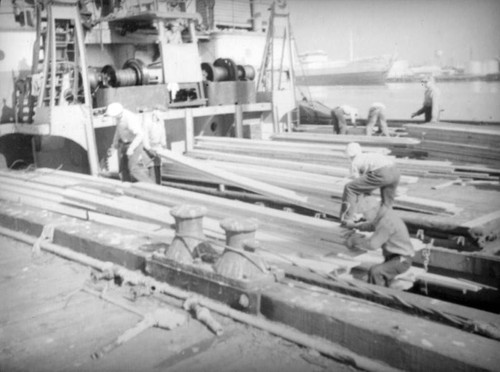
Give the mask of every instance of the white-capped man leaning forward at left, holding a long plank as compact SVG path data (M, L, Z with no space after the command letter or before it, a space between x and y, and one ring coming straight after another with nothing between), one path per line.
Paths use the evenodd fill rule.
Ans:
M123 108L121 103L108 105L106 115L116 125L110 152L118 150L119 173L122 181L152 183L143 162L143 130L141 118Z

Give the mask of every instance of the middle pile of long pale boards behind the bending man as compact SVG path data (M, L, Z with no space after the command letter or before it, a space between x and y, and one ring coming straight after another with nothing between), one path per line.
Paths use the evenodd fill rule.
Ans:
M369 151L389 153L385 147L365 148ZM188 155L203 159L207 168L225 169L270 185L340 203L349 175L344 149L345 145L197 137L195 149L188 152ZM172 179L193 182L200 180L198 173L190 172L176 164L166 165L165 171L167 177ZM210 182L207 178L201 181ZM418 178L403 175L396 208L445 215L460 211L451 203L405 195L405 185L416 182Z

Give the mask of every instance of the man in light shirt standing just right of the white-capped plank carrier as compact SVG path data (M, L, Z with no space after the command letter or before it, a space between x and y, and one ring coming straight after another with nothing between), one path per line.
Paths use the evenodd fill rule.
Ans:
M159 150L167 149L167 135L162 112L165 108L155 106L152 110L144 108L142 114L142 129L144 131L144 153L149 177L158 185L161 184L161 157Z

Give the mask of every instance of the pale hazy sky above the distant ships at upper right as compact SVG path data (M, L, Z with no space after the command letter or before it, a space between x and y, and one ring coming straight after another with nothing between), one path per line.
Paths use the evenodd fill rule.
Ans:
M500 57L500 0L288 0L299 53L330 59L397 53L411 64Z

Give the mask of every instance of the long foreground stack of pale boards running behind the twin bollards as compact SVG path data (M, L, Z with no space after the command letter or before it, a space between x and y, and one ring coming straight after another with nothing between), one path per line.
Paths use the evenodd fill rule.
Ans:
M71 225L71 230L78 229L77 221L81 221L84 229L86 223L96 222L120 228L124 231L122 234L131 231L143 240L155 237L166 244L174 236L170 209L179 204L198 204L208 209L203 225L206 236L221 246L225 241L220 228L222 219L256 218L260 222L256 238L262 243L262 254L278 265L287 264L327 274L349 273L366 261L366 256L358 260L353 252L345 248L345 230L334 222L158 185L122 183L51 169L0 171L0 204L3 211L0 223L5 220L3 214L15 209L9 208L9 205L27 206L72 217L74 220L64 222ZM20 218L25 214L24 211L15 213ZM55 228L58 228L57 224ZM107 236L105 228L99 235L105 237L109 244L115 239L114 236ZM417 250L424 247L417 240L413 243ZM382 261L381 252L369 256L372 260L379 257ZM463 291L482 290L479 284L471 286L467 281L436 278L426 272L419 273L418 278L437 285L446 283L446 286L451 280L455 287Z

